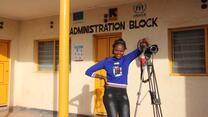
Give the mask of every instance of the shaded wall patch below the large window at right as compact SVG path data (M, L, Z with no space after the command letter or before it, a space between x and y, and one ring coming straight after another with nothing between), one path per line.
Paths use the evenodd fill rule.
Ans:
M186 117L208 116L208 79L186 78Z

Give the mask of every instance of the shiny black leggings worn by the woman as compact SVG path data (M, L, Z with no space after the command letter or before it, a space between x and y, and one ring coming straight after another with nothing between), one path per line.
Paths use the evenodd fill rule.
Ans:
M106 86L103 102L108 117L130 117L129 99L125 88Z

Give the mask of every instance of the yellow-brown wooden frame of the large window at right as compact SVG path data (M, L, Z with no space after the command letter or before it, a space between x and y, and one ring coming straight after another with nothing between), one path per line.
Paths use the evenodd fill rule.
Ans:
M205 73L174 73L173 72L173 44L172 44L172 32L176 31L188 31L204 29L204 51L205 51ZM208 25L190 26L190 27L179 27L168 29L168 52L169 52L169 63L170 63L170 75L171 76L208 76Z

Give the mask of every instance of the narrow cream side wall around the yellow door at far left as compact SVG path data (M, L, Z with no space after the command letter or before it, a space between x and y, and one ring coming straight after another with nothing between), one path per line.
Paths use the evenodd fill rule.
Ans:
M18 40L20 22L0 17L0 22L3 22L3 28L0 29L0 40L10 40L10 81L9 81L9 105L14 103L16 86L15 70L18 64ZM19 87L16 87L17 89Z

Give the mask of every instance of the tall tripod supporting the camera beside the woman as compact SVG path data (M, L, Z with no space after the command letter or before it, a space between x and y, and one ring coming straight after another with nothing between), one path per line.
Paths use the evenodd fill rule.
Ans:
M137 93L138 97L137 97L134 117L137 117L137 109L138 109L138 106L141 104L140 95L141 95L142 84L147 83L147 82L149 83L149 93L151 97L151 104L153 106L154 117L163 117L162 109L160 105L161 104L160 95L159 95L155 70L153 66L153 55L149 57L145 57L143 55L143 58L140 59L140 65L141 65L140 67L141 68L141 76L140 76L141 80L140 80L139 92ZM144 79L145 68L147 68L147 73L148 73L147 79Z

